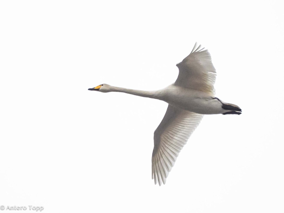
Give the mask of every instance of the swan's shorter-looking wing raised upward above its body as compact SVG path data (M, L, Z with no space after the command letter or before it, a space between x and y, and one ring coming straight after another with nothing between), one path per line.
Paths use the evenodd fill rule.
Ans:
M179 75L174 83L180 87L200 90L214 95L216 70L212 64L208 50L197 47L195 43L191 53L177 64Z

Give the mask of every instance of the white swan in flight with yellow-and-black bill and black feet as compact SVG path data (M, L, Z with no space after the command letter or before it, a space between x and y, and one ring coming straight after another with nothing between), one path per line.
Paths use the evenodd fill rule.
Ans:
M152 179L161 185L171 171L179 152L186 144L204 114L241 114L237 105L225 103L215 97L216 70L208 50L197 48L176 64L179 69L175 83L157 91L141 91L114 87L103 83L88 90L122 92L154 98L168 103L166 114L154 131L152 154Z

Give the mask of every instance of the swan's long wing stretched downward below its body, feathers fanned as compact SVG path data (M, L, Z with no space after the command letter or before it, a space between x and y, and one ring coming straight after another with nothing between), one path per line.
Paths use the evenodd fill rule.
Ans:
M204 115L169 105L160 125L154 132L152 179L155 184L166 183L179 152Z

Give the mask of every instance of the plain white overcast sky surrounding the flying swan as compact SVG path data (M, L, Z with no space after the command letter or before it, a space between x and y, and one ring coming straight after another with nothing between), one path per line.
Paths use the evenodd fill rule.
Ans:
M280 1L1 1L0 205L283 213L283 20ZM87 89L166 87L195 41L243 114L206 115L159 187L167 104Z

